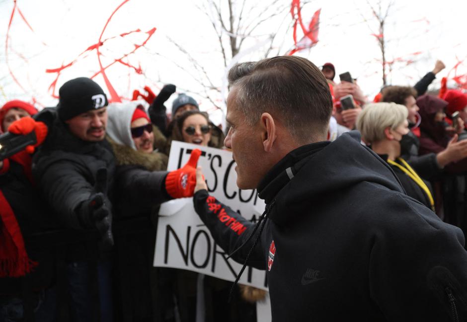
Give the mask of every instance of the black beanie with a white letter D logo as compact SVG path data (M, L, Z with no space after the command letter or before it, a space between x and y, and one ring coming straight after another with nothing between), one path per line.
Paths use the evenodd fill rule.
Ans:
M60 87L57 111L60 120L67 121L81 113L97 110L108 104L107 96L95 81L87 77L78 77Z

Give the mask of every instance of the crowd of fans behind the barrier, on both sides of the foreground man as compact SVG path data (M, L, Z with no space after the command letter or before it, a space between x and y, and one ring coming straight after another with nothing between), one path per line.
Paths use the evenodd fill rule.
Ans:
M336 82L333 64L324 64L334 103L328 139L358 129L362 144L388 164L409 196L466 233L467 95L447 89L445 80L439 92L426 93L444 67L438 61L413 87L384 87L370 102L356 79L343 76ZM255 321L252 303L264 297L261 291L240 285L228 304L231 283L152 267L156 229L150 238L114 236L114 227L129 218L147 217L156 227L161 202L193 194L192 186L191 192L177 186L180 174L193 177L191 160L166 171L172 140L223 148L228 130L213 124L184 93L167 116L164 103L176 92L174 85L158 95L145 89L148 95L135 92L134 101L108 104L99 85L80 77L60 88L56 108L38 112L19 100L1 108L2 132L34 131L37 143L0 161L0 322L22 321L17 277L23 276L34 280L34 321L56 321L57 258L28 241L59 229L95 239L70 243L60 257L71 321L93 321L96 315L100 321L120 321L113 294L124 287L135 302L147 303L148 294L158 299L141 306L135 321L150 321L152 305L159 308L155 321ZM139 96L146 102L136 100ZM130 270L120 267L116 252L134 263ZM95 260L88 259L91 253ZM115 271L126 274L126 286L116 285ZM89 296L94 274L97 309Z

